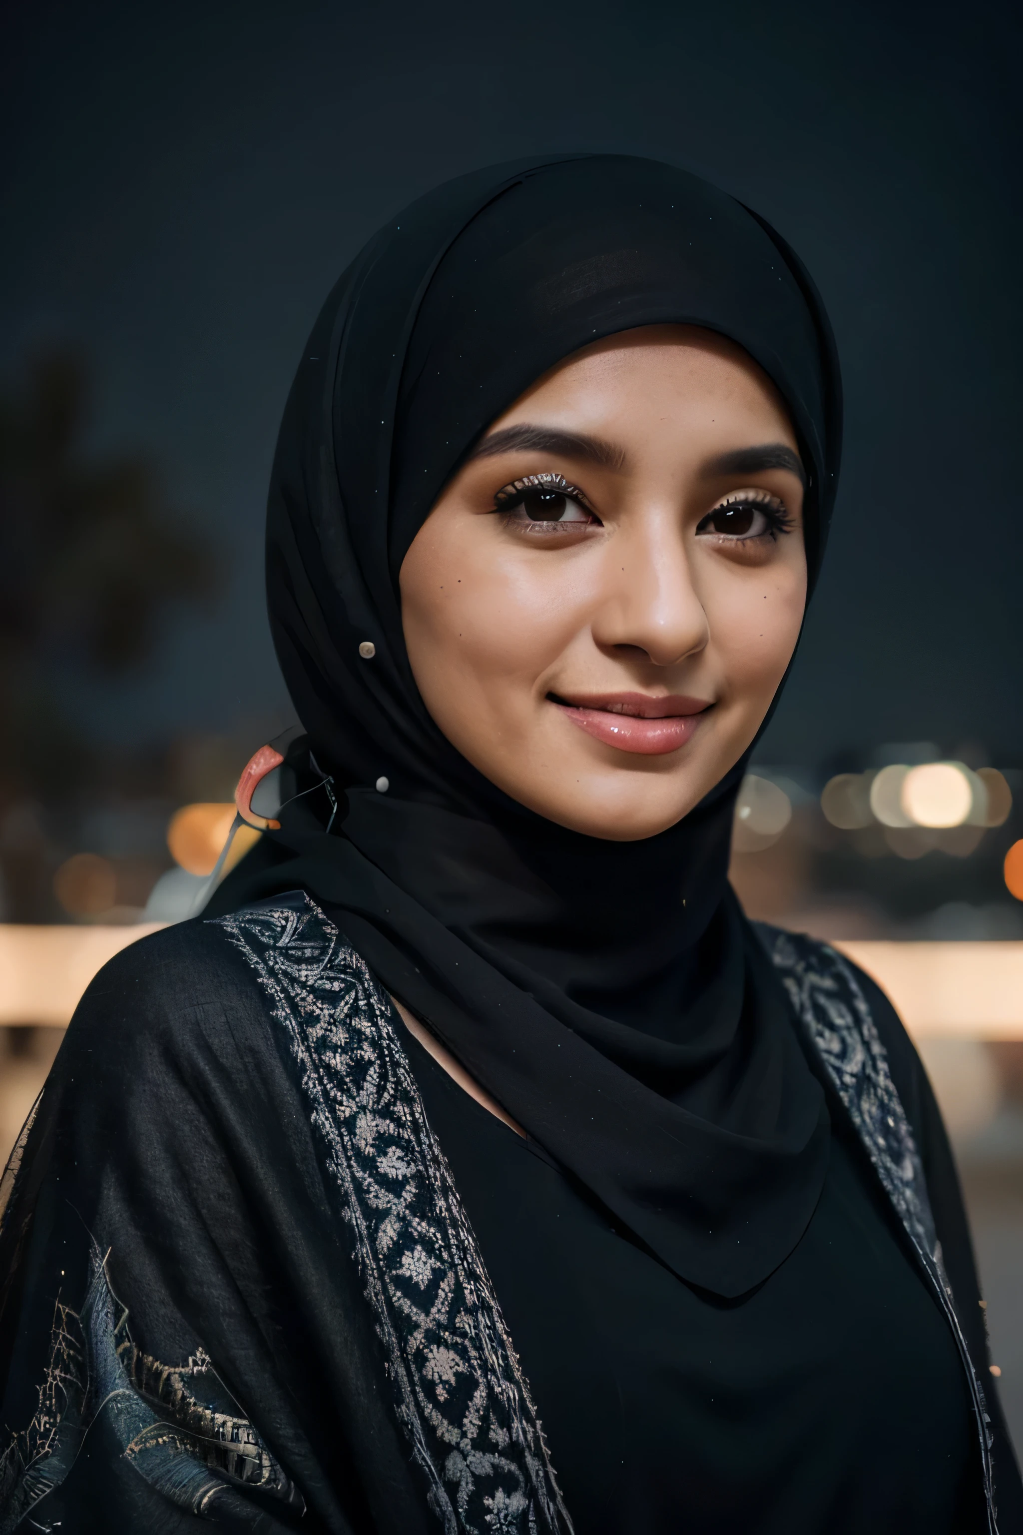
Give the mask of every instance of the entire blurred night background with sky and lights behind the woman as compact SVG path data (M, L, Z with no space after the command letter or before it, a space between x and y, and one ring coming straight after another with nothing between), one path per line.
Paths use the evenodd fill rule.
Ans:
M293 723L262 505L342 267L479 164L670 160L801 252L847 387L833 542L733 878L900 1007L1023 1444L1021 31L989 0L5 8L5 1148L89 976L189 915L241 768Z

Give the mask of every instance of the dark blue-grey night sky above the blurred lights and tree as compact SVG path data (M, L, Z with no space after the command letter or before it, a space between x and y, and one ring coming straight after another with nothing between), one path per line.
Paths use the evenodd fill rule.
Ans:
M1018 6L5 8L0 368L80 342L97 448L143 444L232 582L97 731L288 718L262 614L278 418L373 229L538 149L670 160L752 203L831 312L834 537L765 758L968 737L1023 755ZM253 741L253 746L256 741Z

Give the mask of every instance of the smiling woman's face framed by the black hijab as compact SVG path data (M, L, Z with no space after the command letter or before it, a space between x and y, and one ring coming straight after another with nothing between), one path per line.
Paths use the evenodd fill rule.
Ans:
M802 499L785 408L732 342L652 325L577 353L494 422L405 556L429 714L560 826L673 826L791 657Z

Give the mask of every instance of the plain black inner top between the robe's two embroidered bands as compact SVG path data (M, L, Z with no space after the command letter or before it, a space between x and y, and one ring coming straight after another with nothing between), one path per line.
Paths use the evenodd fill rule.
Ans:
M837 1102L810 1225L721 1300L408 1055L578 1535L988 1529L956 1340Z

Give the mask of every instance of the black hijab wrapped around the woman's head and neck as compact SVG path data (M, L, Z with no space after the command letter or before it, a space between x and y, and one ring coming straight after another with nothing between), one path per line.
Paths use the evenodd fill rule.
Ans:
M684 1280L738 1296L799 1240L828 1147L785 995L727 883L747 758L658 837L567 832L488 783L433 723L397 591L480 433L560 359L656 322L729 336L778 387L810 479L813 582L839 375L785 243L704 181L630 157L439 187L327 299L273 467L270 622L308 732L287 772L294 791L330 775L331 794L293 800L210 910L310 890L618 1228Z

